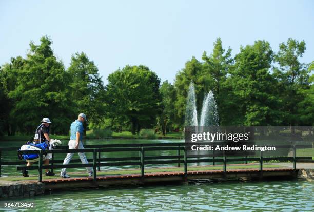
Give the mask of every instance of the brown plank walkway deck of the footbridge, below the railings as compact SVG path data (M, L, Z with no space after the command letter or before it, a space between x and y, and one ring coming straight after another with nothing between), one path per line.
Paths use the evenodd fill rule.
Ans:
M298 170L297 170L298 171ZM199 170L188 171L187 176L183 171L152 172L145 174L123 174L76 178L43 179L46 189L94 187L101 185L162 183L166 181L183 182L186 180L222 179L222 178L261 178L261 177L295 177L296 171L292 168L265 168L262 173L258 168L223 170ZM29 182L35 182L29 181Z

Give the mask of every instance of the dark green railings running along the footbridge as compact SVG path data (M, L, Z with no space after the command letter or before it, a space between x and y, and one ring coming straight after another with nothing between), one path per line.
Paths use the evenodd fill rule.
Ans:
M204 143L205 145L206 143ZM208 143L208 144L216 144L222 145L221 143ZM245 158L233 158L227 156L225 151L212 153L208 155L198 155L191 156L187 154L187 146L185 143L158 143L158 144L105 144L105 145L85 145L85 149L68 149L68 146L59 146L57 149L53 150L24 150L17 151L17 154L27 154L27 153L38 153L39 161L38 165L33 166L17 166L16 170L38 170L38 182L42 182L43 179L43 169L55 169L55 168L83 168L83 167L91 167L93 169L94 175L93 179L97 179L97 170L100 171L101 167L110 167L110 166L139 166L141 169L142 178L145 177L145 165L160 165L160 164L180 164L184 165L184 175L188 174L188 164L189 163L213 163L222 162L224 174L227 173L227 162L245 162L247 161L258 161L259 162L259 171L262 175L263 172L263 162L264 161L292 161L293 170L297 169L297 161L298 160L311 160L312 157L297 157L297 148L312 148L311 145L295 145L293 148L293 156L292 157L263 157L263 152L260 151L259 157L247 157ZM276 146L277 148L290 148L291 146ZM25 161L1 161L1 153L2 151L16 151L18 147L5 147L0 148L0 170L2 165L25 165ZM175 155L167 155L167 156L146 156L146 152L152 151L176 151ZM181 155L181 152L184 152ZM63 160L54 160L54 155L58 153L92 153L93 158L88 159L88 162L92 162L89 164L57 164L55 163L63 163ZM138 152L138 157L110 157L110 158L102 158L102 152ZM50 160L51 165L43 165L43 155L47 153L52 153L52 160ZM243 156L243 155L242 155ZM221 157L221 158L217 158ZM71 162L81 162L80 159L72 159Z

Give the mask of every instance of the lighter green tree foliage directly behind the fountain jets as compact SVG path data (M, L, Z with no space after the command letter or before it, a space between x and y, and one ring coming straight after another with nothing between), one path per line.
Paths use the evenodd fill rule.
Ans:
M207 55L204 51L203 63L199 62L195 57L185 64L185 68L176 74L175 89L177 98L175 101L175 109L181 125L184 123L184 114L186 108L186 97L188 87L193 82L195 87L195 97L197 99L197 110L200 114L205 93L213 91L217 100L219 114L224 117L223 101L225 100L224 82L226 81L227 73L233 63L231 58L231 49L225 52L222 47L222 41L218 38L214 42L213 52Z

